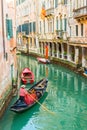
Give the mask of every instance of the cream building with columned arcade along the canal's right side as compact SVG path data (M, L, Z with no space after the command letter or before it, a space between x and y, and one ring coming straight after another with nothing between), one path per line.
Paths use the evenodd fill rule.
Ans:
M87 2L45 0L44 5L46 16L40 21L44 32L40 32L39 43L48 43L49 56L86 66Z

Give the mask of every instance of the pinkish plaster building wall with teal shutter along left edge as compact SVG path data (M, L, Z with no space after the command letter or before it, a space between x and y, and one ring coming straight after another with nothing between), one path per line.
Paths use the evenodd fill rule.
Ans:
M0 116L4 112L3 106L6 103L7 97L12 90L12 81L15 77L14 75L14 58L11 53L9 37L13 37L11 27L12 21L7 20L8 11L7 11L6 0L0 1ZM8 24L9 22L9 24ZM10 29L10 30L9 30ZM10 32L11 31L11 32ZM10 35L11 34L11 35ZM1 112L2 111L2 112Z

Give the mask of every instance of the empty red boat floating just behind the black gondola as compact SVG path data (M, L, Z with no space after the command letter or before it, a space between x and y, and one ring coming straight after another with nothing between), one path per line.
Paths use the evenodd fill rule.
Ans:
M21 73L21 81L23 84L32 84L34 82L34 74L29 68L23 69Z

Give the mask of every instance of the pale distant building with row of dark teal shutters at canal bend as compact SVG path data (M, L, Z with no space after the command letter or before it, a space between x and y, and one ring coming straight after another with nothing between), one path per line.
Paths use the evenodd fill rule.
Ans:
M37 51L38 0L16 1L17 45ZM27 51L29 51L27 49Z

